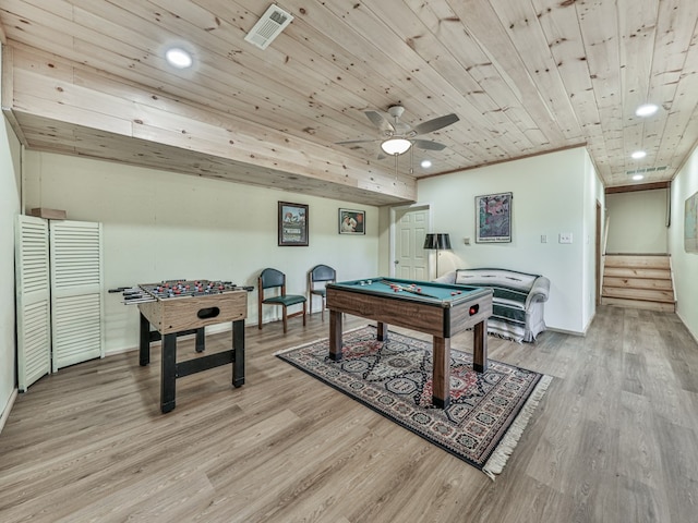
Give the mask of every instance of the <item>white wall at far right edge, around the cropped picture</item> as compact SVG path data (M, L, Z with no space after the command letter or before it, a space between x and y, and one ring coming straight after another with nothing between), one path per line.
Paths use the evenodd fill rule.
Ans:
M672 257L676 313L698 340L698 253L684 250L684 210L687 198L698 192L698 149L672 182L669 253Z

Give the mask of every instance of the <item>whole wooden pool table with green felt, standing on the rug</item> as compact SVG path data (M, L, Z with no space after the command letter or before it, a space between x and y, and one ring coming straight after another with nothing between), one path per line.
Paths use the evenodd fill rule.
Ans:
M492 289L449 285L396 278L328 283L329 357L341 360L342 314L377 321L377 339L388 338L388 325L433 336L433 398L435 406L450 403L450 338L472 328L473 369L488 368L488 318Z

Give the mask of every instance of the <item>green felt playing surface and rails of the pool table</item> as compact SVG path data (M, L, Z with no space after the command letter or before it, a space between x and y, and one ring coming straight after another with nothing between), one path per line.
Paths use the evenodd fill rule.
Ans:
M340 289L364 294L393 296L400 300L418 300L453 306L459 302L470 301L492 294L492 290L436 283L433 281L404 280L399 278L364 278L360 280L328 283L328 289ZM396 289L398 289L396 291Z

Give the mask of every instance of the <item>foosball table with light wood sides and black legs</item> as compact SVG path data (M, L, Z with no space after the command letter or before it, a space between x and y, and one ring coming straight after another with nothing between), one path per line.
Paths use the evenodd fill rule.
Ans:
M244 319L248 292L228 281L168 280L120 289L124 303L137 304L141 313L139 361L151 363L151 342L161 340L160 411L174 409L176 380L220 365L232 364L232 386L244 384ZM195 335L196 352L205 351L205 327L232 323L228 351L177 362L177 338ZM151 326L155 330L151 330Z

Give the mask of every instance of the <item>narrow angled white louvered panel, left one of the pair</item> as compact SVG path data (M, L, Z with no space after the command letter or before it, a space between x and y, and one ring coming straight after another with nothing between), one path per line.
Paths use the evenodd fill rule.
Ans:
M17 381L22 392L51 372L48 222L17 216L15 281Z

